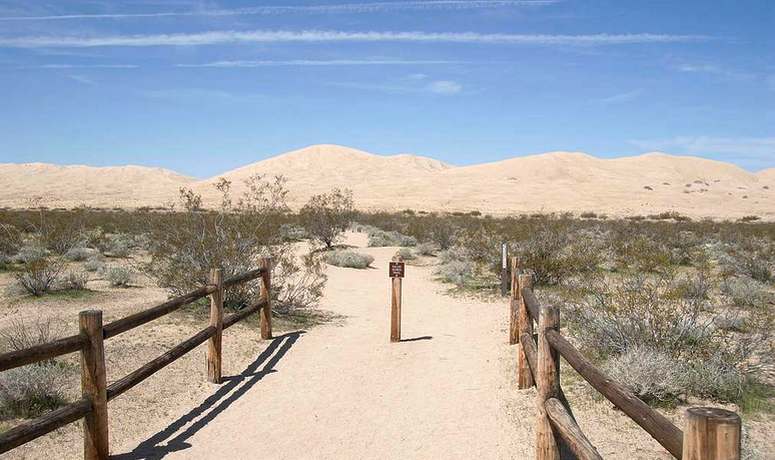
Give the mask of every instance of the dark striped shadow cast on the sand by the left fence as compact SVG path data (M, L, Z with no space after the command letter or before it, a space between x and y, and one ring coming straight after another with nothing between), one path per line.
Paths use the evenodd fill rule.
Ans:
M237 401L257 384L265 375L277 372L274 366L288 353L294 343L306 331L289 332L275 337L255 361L250 363L239 375L224 377L224 383L218 390L205 399L199 406L189 411L169 426L141 442L131 452L111 455L114 460L160 459L167 454L188 449L186 442L199 430L207 426L221 412ZM263 367L261 367L263 365ZM259 369L261 367L261 369ZM208 409L211 409L208 411ZM205 414L206 412L206 414ZM178 430L188 426L185 431ZM166 444L161 445L166 441Z

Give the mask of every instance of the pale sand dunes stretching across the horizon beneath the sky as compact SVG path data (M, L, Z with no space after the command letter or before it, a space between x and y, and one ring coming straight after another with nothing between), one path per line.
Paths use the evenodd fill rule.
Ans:
M601 159L550 152L472 166L415 155L383 156L337 145L315 145L195 181L137 166L93 168L44 164L0 165L0 205L26 206L49 195L58 206L156 206L179 187L217 203L213 185L235 193L254 174L283 175L293 207L311 195L346 187L361 209L481 211L491 214L595 211L611 215L676 211L693 217L775 219L775 169L750 173L696 157L648 153Z

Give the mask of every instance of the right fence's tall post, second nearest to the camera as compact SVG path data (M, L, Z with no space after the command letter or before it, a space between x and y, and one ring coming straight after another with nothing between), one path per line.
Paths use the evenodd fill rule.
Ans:
M536 459L559 460L560 450L552 432L545 403L549 398L557 398L560 393L560 361L557 351L546 340L548 329L560 329L560 310L556 306L541 308L538 319L538 363L536 364L536 384L538 387L538 423L536 426Z

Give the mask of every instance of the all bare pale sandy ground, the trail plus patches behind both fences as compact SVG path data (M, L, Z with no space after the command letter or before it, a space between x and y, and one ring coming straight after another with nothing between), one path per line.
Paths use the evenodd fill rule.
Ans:
M348 243L365 246L365 235ZM328 268L321 308L338 320L271 341L258 339L255 324L237 325L226 332L222 385L205 382L202 346L111 402L114 458L533 458L535 392L515 389L506 303L450 296L432 267L410 265L405 341L391 344L387 262L395 248L359 250L375 257L375 268ZM74 318L88 303L113 318L164 298L155 288L102 288L88 300L46 306ZM29 311L25 302L4 309L0 325ZM205 323L178 314L107 342L109 381ZM566 374L576 417L605 458L669 458ZM680 415L671 417L681 426ZM775 451L771 422L749 426L763 452ZM8 458L81 458L81 443L76 423Z

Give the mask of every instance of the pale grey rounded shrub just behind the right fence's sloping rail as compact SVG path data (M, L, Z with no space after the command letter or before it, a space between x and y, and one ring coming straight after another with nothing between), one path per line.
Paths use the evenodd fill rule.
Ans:
M691 385L686 366L667 353L634 347L606 361L604 371L646 402L674 402Z

